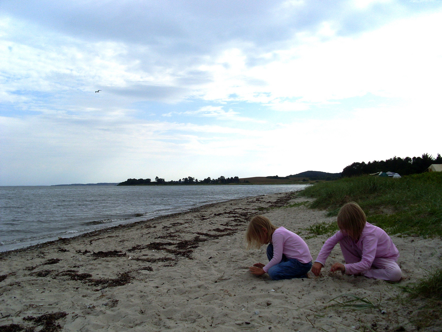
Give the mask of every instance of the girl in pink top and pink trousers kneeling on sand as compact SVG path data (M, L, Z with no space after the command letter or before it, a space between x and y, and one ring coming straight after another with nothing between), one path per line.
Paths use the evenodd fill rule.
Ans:
M347 203L338 213L339 231L325 241L312 272L318 276L331 250L339 242L347 264L334 263L330 271L345 274L363 275L367 278L397 282L402 272L397 259L397 251L392 239L379 227L366 221L362 208L355 202Z

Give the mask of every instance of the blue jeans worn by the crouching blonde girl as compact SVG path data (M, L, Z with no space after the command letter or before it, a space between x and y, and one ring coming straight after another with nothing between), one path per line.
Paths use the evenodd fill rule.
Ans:
M267 246L267 258L273 258L273 243ZM273 280L307 278L307 272L312 268L312 262L301 263L297 259L287 258L282 254L281 262L272 266L267 273Z

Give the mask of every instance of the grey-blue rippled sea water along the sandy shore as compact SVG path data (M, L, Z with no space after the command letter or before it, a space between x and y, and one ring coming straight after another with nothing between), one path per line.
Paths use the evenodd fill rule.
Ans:
M0 251L305 185L0 187Z

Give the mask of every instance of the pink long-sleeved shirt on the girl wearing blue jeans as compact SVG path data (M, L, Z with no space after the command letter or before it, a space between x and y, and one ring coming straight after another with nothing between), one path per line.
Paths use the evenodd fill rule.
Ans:
M312 261L309 247L301 237L293 232L290 232L284 227L276 228L272 235L273 243L273 258L263 267L267 271L282 260L282 254L287 258L294 258L301 263L309 263Z

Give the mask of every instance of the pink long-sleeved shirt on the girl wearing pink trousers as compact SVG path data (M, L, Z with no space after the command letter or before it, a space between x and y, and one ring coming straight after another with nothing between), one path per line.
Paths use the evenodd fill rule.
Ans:
M315 262L319 262L324 266L331 250L344 236L348 235L338 231L325 241ZM365 224L359 240L357 242L352 241L355 251L353 254L362 258L358 263L345 264L345 274L355 274L370 269L375 258L393 259L395 261L399 258L399 251L389 235L382 228L370 223Z

